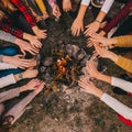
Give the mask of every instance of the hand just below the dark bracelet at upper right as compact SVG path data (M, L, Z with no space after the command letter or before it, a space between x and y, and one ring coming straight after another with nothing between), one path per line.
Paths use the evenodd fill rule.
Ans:
M96 33L99 30L100 23L97 21L91 22L86 26L85 35L89 36L92 33Z

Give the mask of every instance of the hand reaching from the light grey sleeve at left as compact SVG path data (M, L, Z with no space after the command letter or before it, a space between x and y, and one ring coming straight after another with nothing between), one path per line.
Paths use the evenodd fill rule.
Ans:
M29 52L32 55L36 55L38 53L38 48L33 47L29 42L15 38L15 44L19 45L20 51L22 52L23 56L25 56L25 52Z

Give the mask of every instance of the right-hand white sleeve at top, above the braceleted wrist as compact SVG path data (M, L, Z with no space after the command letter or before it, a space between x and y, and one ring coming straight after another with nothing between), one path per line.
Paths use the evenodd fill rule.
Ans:
M112 7L113 2L114 0L106 0L101 8L101 11L103 11L107 14L110 8Z

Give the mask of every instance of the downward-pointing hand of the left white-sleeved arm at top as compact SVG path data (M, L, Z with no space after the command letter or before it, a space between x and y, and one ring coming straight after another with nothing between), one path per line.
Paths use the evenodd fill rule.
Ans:
M72 30L72 34L77 36L79 35L80 32L84 32L82 20L75 19L70 30Z

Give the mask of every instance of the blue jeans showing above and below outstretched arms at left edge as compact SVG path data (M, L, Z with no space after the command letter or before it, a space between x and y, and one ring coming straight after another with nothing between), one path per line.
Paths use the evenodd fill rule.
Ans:
M19 50L16 47L13 46L7 46L7 47L1 47L0 48L0 55L8 55L8 56L13 56L19 54ZM21 73L22 69L20 68L12 68L12 69L4 69L4 70L0 70L0 77L10 75L10 74L18 74Z

